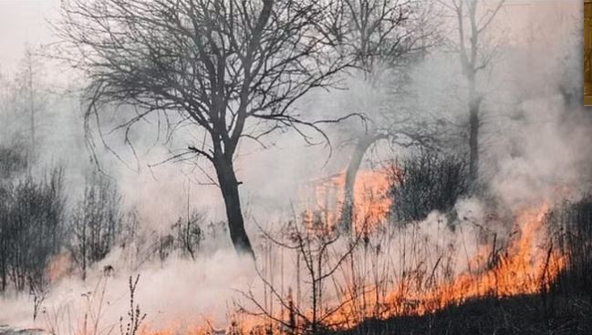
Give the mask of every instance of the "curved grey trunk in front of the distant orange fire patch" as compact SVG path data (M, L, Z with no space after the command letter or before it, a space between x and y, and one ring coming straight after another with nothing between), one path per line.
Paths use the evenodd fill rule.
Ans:
M364 155L366 154L366 150L368 150L376 139L377 137L369 135L360 137L356 147L354 147L354 152L349 159L343 191L343 205L341 206L341 216L339 218L339 229L343 232L350 232L353 227L356 176L358 176L358 170L362 163L362 158L364 158Z

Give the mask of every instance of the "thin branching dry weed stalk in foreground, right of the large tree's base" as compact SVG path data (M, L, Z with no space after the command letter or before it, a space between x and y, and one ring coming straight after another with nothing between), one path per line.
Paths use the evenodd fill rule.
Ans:
M348 320L338 320L338 312L351 302L353 298L341 300L336 305L328 304L327 282L334 280L334 275L338 269L346 265L346 260L350 257L354 249L358 247L360 237L348 239L340 237L337 233L311 232L301 230L296 225L289 226L289 232L286 233L286 241L275 239L264 231L265 239L269 242L267 251L271 247L279 248L284 251L294 252L297 260L297 292L296 301L292 294L292 288L287 289L287 294L283 288L275 285L273 275L267 269L257 267L257 274L265 288L265 301L262 302L254 296L249 290L241 292L244 298L254 305L254 310L249 311L243 306L240 309L244 312L265 318L279 325L282 331L291 334L310 333L316 334L319 331L335 329L344 326ZM338 252L339 242L346 242L346 248ZM270 261L265 262L267 266ZM303 263L302 265L300 263ZM302 269L301 269L302 268ZM300 271L303 271L305 279L300 279ZM309 289L309 304L305 306L299 295L302 287ZM335 297L340 300L338 297ZM277 303L282 310L276 313L273 310L273 303ZM287 313L287 317L286 314ZM272 331L272 327L268 327Z

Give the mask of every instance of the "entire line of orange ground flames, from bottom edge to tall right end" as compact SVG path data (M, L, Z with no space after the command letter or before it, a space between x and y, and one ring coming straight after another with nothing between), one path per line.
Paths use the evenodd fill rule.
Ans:
M412 280L400 280L392 283L385 299L381 300L373 299L371 294L364 296L363 302L359 296L345 294L339 297L332 302L333 305L340 306L338 312L328 318L327 323L348 328L368 317L388 319L421 315L468 299L532 294L548 289L567 261L549 242L545 224L548 211L547 205L524 210L514 220L514 233L504 251L493 257L495 248L484 245L470 259L468 269L454 275L450 280L433 285L414 285ZM371 289L375 288L369 288ZM288 301L291 303L292 299L288 297ZM327 302L326 306L329 308L331 303ZM158 331L146 327L142 335L286 333L272 318L239 315L232 318L231 325L225 329L214 328L212 322L202 322L200 326L175 326ZM289 311L285 309L278 311L273 319L291 323Z

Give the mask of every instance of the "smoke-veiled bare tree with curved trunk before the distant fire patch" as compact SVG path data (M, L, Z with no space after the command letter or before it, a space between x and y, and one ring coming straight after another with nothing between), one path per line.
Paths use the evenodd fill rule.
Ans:
M411 146L427 144L427 125L418 122L409 106L401 103L406 70L420 60L434 41L435 29L428 24L431 5L416 0L339 0L332 5L326 29L355 59L369 92L358 99L364 122L348 129L346 142L353 147L346 170L340 228L348 231L353 221L354 187L358 169L367 151L379 140ZM366 96L365 96L366 95ZM368 96L369 95L369 96ZM351 125L350 125L351 126Z

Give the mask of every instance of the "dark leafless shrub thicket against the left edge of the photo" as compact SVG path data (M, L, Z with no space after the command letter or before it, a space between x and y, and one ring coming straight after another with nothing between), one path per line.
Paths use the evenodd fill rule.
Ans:
M47 266L65 237L62 170L0 181L0 289L47 288Z

